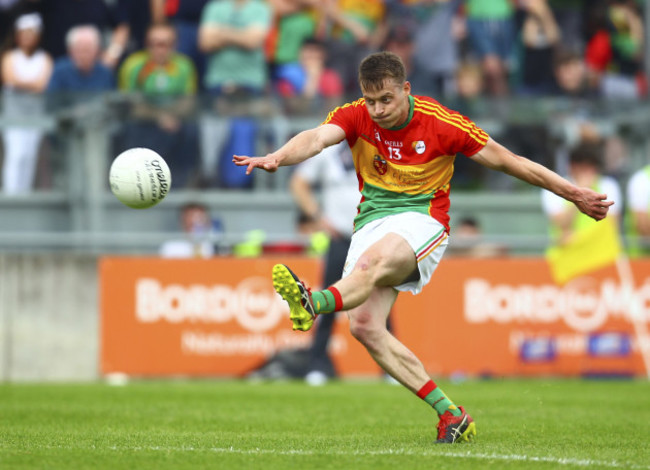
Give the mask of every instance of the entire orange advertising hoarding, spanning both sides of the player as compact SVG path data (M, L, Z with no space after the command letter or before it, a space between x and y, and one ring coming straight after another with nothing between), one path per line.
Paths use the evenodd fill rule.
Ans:
M100 263L101 370L137 376L240 376L275 351L307 346L275 294L284 262L319 285L313 258ZM565 286L543 259L445 259L432 282L393 311L398 336L435 375L645 375L650 349L650 260L632 264L634 285L615 268ZM339 315L330 351L343 375L378 368Z

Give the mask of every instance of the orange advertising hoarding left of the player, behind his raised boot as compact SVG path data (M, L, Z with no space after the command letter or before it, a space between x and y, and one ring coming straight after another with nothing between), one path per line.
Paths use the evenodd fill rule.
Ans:
M292 331L289 309L273 290L271 268L279 262L318 286L314 258L102 259L102 372L239 376L277 350L309 345L312 333ZM346 372L377 373L349 334L335 332L330 347Z

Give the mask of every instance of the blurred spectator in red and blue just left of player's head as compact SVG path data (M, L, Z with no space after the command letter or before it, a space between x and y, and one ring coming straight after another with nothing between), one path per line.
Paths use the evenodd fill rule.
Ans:
M289 113L321 112L341 104L343 83L327 68L323 43L309 39L300 48L298 63L278 68L277 90L285 99Z

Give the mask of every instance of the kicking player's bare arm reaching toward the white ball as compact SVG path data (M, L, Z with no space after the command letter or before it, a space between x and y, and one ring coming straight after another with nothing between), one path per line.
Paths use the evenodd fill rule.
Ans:
M281 166L295 165L307 160L319 154L325 147L338 144L343 139L345 139L343 129L334 124L323 124L296 134L278 150L265 157L233 155L232 161L237 166L245 166L247 175L254 168L273 173Z

